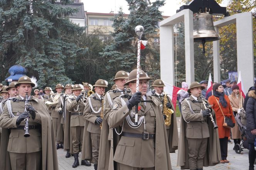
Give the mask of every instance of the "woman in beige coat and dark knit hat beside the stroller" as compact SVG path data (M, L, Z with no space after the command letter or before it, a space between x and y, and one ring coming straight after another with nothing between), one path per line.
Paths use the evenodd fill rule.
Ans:
M239 93L238 85L235 84L232 86L232 93L231 95L229 95L229 100L230 100L230 104L231 104L234 116L236 116L238 110L243 107L243 102L244 102L244 98ZM235 126L231 128L231 133L232 133L232 139L234 140L234 145L240 144L242 133L239 131L237 122L235 123Z

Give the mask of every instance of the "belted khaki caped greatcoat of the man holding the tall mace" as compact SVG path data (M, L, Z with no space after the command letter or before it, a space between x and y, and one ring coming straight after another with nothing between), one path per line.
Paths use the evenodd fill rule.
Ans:
M128 133L144 132L144 125L138 128L131 128L128 125L126 116L131 117L129 115L131 112L127 105L122 103L122 100L126 102L128 98L118 97L114 100L113 109L108 117L109 127L123 126L123 132ZM143 140L142 138L121 136L116 147L114 161L131 167L155 167L155 170L170 170L172 166L168 139L160 103L151 96L147 96L146 100L152 100L152 102L147 102L146 106L139 103L138 119L145 116L146 130L148 133L155 133L155 139ZM133 107L134 111L135 107ZM134 122L133 118L131 119Z

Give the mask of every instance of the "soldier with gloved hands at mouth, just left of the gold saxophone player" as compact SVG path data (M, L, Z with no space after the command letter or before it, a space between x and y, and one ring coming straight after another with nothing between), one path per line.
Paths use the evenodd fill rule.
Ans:
M71 127L71 140L73 145L73 153L74 153L74 164L73 168L79 166L78 154L83 148L83 133L84 133L84 123L85 119L83 117L84 111L84 102L83 95L81 95L81 91L83 88L80 85L76 84L72 88L73 97L68 98L66 109L71 112L70 118L70 127ZM88 162L86 160L81 161L81 165L87 165Z

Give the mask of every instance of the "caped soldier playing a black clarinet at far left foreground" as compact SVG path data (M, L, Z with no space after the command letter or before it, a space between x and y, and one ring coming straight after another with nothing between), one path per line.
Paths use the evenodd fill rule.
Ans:
M19 78L15 85L19 91L17 100L8 100L5 103L0 117L3 132L0 149L2 170L58 169L57 151L53 147L55 137L52 119L44 102L31 96L34 86L29 77ZM29 98L28 112L24 112L26 93ZM24 137L24 118L29 121L30 137L27 138Z

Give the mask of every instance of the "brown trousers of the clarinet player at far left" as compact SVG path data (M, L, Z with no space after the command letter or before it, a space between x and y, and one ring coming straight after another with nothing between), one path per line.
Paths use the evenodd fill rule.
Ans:
M13 170L39 170L41 167L42 151L9 154Z

